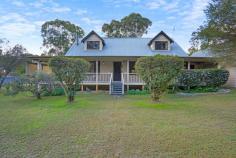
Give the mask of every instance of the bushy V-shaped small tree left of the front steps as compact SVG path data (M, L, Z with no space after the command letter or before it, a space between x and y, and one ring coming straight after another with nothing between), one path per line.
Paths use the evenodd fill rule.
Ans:
M84 59L58 56L53 57L49 61L49 65L60 81L68 102L73 102L76 89L79 88L85 73L89 70L89 63Z

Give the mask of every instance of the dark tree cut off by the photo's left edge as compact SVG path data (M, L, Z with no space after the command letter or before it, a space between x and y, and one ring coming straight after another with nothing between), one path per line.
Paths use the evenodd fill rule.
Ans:
M5 45L8 45L8 42L4 42ZM0 69L2 69L1 78L0 78L0 89L4 83L6 77L15 70L22 62L24 62L24 54L27 50L22 45L15 45L14 47L3 46L0 48Z

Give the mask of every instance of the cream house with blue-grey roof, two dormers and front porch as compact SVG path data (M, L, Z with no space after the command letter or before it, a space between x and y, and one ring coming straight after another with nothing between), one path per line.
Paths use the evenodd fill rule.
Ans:
M90 71L81 84L82 91L109 90L111 94L123 94L125 90L144 88L145 83L135 73L135 62L140 57L156 54L179 56L184 59L186 69L217 67L210 56L188 56L163 31L153 38L102 38L95 31L91 31L84 38L78 38L66 56L84 58L91 63ZM32 57L32 62L26 66L26 73L51 73L48 67L49 58ZM236 86L236 80L233 79L229 84Z

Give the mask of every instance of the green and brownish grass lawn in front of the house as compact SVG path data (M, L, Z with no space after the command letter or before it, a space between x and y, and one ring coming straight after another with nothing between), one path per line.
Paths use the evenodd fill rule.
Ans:
M36 100L0 95L0 157L236 157L230 94L79 94Z

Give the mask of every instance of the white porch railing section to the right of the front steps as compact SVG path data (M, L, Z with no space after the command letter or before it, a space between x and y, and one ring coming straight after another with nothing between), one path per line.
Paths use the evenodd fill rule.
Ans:
M122 73L124 84L144 84L137 73Z

